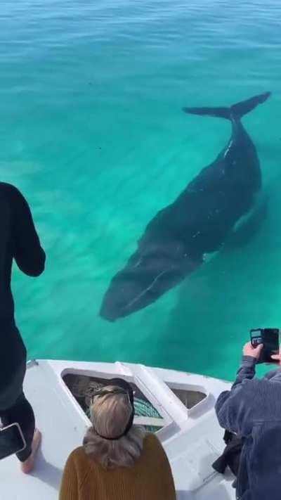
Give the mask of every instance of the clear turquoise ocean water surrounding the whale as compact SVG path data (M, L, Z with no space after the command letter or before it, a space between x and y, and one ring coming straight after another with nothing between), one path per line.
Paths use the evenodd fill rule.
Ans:
M141 362L231 379L248 331L281 326L279 0L12 0L0 6L0 175L48 264L13 274L30 357ZM183 105L273 97L244 119L268 214L247 245L107 323L110 278L145 225L214 160L224 120Z

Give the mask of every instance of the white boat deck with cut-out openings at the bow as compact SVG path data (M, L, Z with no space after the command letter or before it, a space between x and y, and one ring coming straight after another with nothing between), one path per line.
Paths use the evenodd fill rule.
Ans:
M122 376L141 391L163 416L157 435L171 462L179 500L234 500L233 477L218 475L211 463L223 449L223 431L214 414L214 401L229 384L195 374L142 365L34 361L27 366L25 394L34 407L43 439L31 475L20 472L15 456L0 462L0 500L57 500L67 456L83 440L89 425L81 406L63 382L67 373L111 378ZM187 409L175 390L185 387L206 394ZM141 422L140 422L141 423Z

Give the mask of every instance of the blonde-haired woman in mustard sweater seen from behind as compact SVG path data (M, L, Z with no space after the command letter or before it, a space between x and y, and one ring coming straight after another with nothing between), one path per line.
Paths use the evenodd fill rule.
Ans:
M133 425L134 414L125 380L109 380L95 393L92 426L67 459L60 500L176 500L162 444Z

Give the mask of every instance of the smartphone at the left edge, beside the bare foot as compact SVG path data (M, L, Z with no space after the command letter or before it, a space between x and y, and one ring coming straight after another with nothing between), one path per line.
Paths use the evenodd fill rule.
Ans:
M18 423L0 427L0 460L26 448L25 437Z

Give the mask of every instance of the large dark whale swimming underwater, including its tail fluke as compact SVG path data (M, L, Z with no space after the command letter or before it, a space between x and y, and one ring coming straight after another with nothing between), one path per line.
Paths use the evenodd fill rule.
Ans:
M261 190L261 169L241 118L269 96L267 92L230 108L183 108L185 113L230 120L230 140L174 203L149 222L136 252L112 278L100 316L115 321L155 302L200 267L204 254L220 250L235 224L250 212Z

